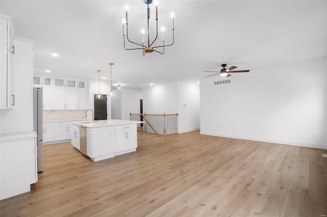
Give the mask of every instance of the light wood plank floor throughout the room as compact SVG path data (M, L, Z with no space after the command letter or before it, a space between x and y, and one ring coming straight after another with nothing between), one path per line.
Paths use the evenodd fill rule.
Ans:
M327 150L200 135L138 134L134 153L92 162L44 146L36 188L1 216L326 216Z

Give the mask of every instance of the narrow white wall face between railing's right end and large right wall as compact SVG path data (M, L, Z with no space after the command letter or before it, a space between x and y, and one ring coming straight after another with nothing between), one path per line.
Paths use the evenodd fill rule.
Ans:
M200 129L199 84L178 82L178 133Z

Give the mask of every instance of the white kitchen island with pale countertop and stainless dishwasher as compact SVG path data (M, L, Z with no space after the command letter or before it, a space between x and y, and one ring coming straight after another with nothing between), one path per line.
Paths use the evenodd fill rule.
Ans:
M143 121L99 120L72 122L72 145L99 161L136 151L137 124Z

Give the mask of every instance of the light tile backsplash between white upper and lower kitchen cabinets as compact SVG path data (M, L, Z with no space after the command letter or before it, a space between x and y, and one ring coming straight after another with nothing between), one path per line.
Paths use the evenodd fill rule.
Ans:
M43 121L85 119L86 110L43 110Z

